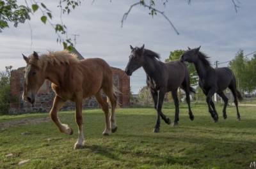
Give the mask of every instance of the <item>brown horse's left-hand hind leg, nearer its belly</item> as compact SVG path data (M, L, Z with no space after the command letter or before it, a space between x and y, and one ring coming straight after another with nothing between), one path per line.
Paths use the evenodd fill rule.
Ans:
M110 126L109 126L109 110L108 110L108 103L102 98L101 90L94 95L97 99L98 103L100 104L103 112L105 113L105 121L106 121L106 128L103 131L102 135L106 136L109 135Z

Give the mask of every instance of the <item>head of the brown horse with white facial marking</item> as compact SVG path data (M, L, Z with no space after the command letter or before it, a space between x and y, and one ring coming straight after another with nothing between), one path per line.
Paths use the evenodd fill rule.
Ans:
M23 55L23 54L22 54ZM38 54L33 54L26 57L23 55L24 60L27 63L24 69L24 88L22 98L29 103L35 102L35 95L38 89L44 84L45 74L42 70Z

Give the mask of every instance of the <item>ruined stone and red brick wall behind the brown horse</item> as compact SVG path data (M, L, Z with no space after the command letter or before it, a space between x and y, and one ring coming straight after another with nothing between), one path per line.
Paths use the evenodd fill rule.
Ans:
M113 84L119 89L122 94L116 94L118 96L118 103L120 107L129 107L130 105L130 77L125 74L123 70L118 68L112 68L113 71ZM54 99L55 93L52 91L51 82L45 80L44 84L38 90L36 94L36 101L33 105L23 101L23 70L24 68L19 68L18 70L13 70L11 73L11 92L15 95L18 101L10 102L9 114L17 114L19 112L49 112L52 107L52 101ZM106 96L104 96L106 97ZM100 107L94 97L87 98L83 100L83 108L94 108ZM75 104L72 101L67 101L61 110L74 110Z

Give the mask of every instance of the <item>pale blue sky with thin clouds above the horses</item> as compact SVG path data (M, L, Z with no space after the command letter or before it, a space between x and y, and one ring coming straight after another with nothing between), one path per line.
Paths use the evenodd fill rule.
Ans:
M227 61L234 59L240 49L244 55L256 51L255 0L235 0L239 6L237 12L232 0L192 0L191 4L186 0L169 0L165 7L164 1L155 1L156 8L164 11L179 34L161 13L152 18L148 8L141 5L132 8L121 27L124 13L138 1L81 1L81 6L69 15L62 15L63 24L68 28L67 35L72 40L75 38L73 34L79 35L76 36L76 49L83 57L100 57L110 66L122 70L129 61L130 45L141 47L145 44L145 48L160 54L163 62L173 50L201 45L200 51L210 57L212 64L225 62L218 67L227 66ZM51 22L60 24L58 1L45 0L44 4L52 11ZM13 70L26 66L22 54L63 49L56 41L54 29L43 24L41 16L42 13L36 11L29 22L19 24L17 28L10 24L0 33L0 71L4 71L5 66L13 66ZM134 94L146 85L145 80L143 68L132 74L130 84Z

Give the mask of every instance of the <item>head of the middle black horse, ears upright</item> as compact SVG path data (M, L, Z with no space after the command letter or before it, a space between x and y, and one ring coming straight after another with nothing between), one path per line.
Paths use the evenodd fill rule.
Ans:
M144 45L142 47L133 48L131 45L131 54L129 55L129 62L125 68L125 73L129 76L138 68L142 66L143 63L143 52L144 52Z

